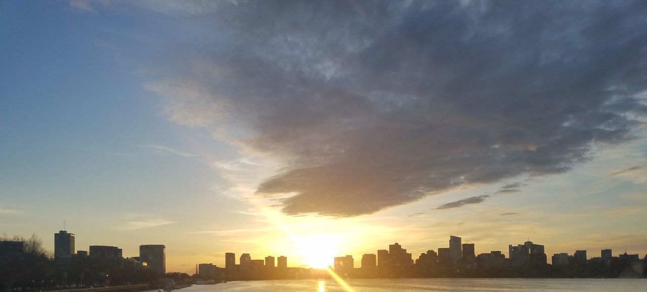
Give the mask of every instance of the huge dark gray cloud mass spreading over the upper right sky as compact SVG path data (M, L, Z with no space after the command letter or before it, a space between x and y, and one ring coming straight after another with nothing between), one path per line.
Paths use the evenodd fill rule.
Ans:
M208 28L182 38L197 57L148 88L175 120L285 161L258 186L284 213L369 214L559 174L633 138L645 15L645 1L241 1L182 18Z

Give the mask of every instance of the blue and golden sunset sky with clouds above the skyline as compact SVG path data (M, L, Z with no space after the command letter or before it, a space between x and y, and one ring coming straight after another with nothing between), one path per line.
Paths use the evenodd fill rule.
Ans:
M647 255L644 1L1 1L0 232Z

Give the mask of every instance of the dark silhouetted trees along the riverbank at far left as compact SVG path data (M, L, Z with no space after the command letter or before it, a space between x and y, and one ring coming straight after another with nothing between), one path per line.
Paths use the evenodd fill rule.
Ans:
M72 256L54 260L32 235L2 236L0 241L23 242L22 252L0 251L0 291L43 291L81 287L148 284L157 276L124 258Z

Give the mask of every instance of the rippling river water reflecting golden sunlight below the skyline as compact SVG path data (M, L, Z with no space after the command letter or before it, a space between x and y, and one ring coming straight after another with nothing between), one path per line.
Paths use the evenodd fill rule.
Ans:
M647 279L356 279L356 292L409 291L647 291ZM346 291L334 280L238 281L194 285L177 292Z

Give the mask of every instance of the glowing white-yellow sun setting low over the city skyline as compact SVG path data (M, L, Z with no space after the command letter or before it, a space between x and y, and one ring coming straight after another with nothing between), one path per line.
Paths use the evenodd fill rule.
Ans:
M337 255L339 236L337 235L308 235L300 238L298 248L303 262L315 269L323 269L333 265Z

